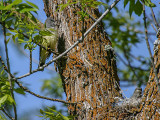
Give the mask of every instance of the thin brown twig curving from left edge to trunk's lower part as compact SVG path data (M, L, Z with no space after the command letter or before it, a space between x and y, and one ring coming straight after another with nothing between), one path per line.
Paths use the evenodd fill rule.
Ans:
M4 61L2 60L1 56L0 56L0 61L1 61L2 65L3 65L4 70L5 70L7 73L9 73L8 68L7 68L7 66L5 65ZM23 89L24 91L26 91L26 92L28 92L28 93L30 93L30 94L38 97L38 98L42 98L42 99L46 99L46 100L50 100L50 101L62 102L62 103L65 103L65 104L76 104L76 103L66 102L66 101L60 100L60 99L53 99L53 98L48 98L48 97L45 97L45 96L38 95L38 94L30 91L30 90L27 89L26 87L24 87L20 82L17 81L17 79L14 77L14 75L12 75L11 73L9 73L9 74L10 74L10 76L12 77L12 79L15 80L15 82L17 83L17 85L18 85L21 89Z

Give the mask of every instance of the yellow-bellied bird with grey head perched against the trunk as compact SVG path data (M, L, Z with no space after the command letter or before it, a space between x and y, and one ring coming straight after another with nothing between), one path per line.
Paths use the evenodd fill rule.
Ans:
M57 26L53 18L48 17L46 19L45 28L44 30L40 31L40 34L42 35L41 45L43 47L40 46L38 67L42 67L45 64L46 59L50 57L51 52L47 49L50 48L51 50L55 50L56 43L58 41Z

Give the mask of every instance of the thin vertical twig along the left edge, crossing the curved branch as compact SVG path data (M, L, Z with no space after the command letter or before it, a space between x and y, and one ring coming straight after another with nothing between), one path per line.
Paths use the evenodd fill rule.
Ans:
M8 67L8 79L9 79L9 83L10 83L10 91L11 91L11 96L14 99L12 79L10 76L11 70L10 70L10 63L9 63L9 56L8 56L5 22L3 22L3 35L4 35L4 44L5 44L6 61L7 61L7 67ZM14 103L13 103L13 109L14 109L15 120L17 120L17 108Z

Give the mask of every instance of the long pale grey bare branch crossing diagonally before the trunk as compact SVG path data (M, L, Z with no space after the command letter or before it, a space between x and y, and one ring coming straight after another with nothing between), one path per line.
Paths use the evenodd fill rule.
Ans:
M107 15L110 10L119 2L120 0L115 0L111 6L101 15L101 17L99 17L97 19L97 21L84 33L84 38L88 35L88 33L104 18L105 15ZM24 77L27 77L37 71L41 71L43 70L45 67L47 67L48 65L50 65L51 63L55 62L56 60L60 59L62 56L64 56L65 54L67 54L70 50L72 50L75 46L77 46L80 42L82 42L82 37L80 39L78 39L70 48L68 48L66 51L64 51L63 53L61 53L59 56L53 58L52 60L50 60L47 64L43 65L42 67L33 70L31 73L27 73L25 75L22 75L20 77L17 77L16 79L21 79Z

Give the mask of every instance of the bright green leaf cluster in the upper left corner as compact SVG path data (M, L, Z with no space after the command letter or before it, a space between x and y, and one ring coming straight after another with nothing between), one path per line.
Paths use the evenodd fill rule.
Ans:
M5 2L0 2L0 23L5 24L5 27L9 29L10 32L7 33L8 42L13 40L19 43L25 43L25 48L34 49L36 45L32 43L32 37L34 34L38 33L37 29L40 29L36 18L33 16L32 12L37 13L38 7L26 1L22 3L22 0L11 0ZM23 34L22 34L23 33ZM24 39L24 35L29 36L29 39Z

